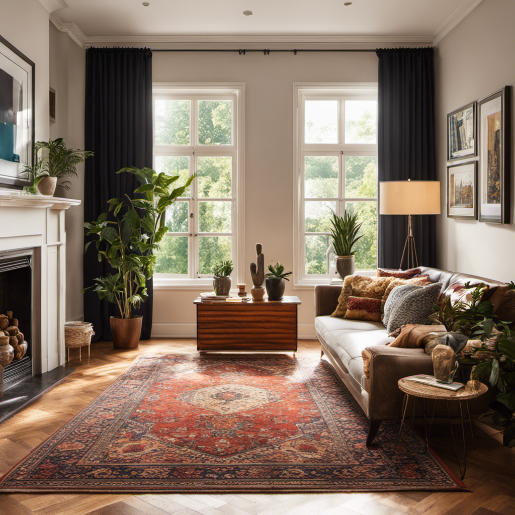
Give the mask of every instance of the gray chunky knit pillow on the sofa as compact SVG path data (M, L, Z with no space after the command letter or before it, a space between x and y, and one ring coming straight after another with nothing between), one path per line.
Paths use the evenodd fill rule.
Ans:
M388 320L383 322L388 333L393 333L407 323L426 324L427 317L433 312L441 287L442 283L433 283L427 286L403 284L393 288L384 308L386 314L387 304L390 303ZM393 297L394 292L396 295Z

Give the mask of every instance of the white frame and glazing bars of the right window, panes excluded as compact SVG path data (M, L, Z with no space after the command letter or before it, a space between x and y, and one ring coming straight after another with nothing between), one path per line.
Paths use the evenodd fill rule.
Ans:
M337 99L338 104L338 143L304 143L304 101ZM344 172L341 170L345 162L341 156L377 156L377 142L374 144L345 144L345 119L340 116L344 100L377 100L376 82L346 83L294 83L293 116L294 116L294 289L313 289L316 284L329 283L329 274L310 274L305 268L304 243L304 157L305 156L339 156L338 165L338 198L317 199L336 200L336 214L341 216L345 202L374 200L374 198L346 198ZM379 211L378 211L379 213ZM378 215L379 218L379 215ZM359 270L359 273L375 275L375 270Z

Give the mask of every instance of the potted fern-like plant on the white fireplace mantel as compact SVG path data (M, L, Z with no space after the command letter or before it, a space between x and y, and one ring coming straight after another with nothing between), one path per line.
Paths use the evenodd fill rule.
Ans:
M45 155L40 156L41 150ZM57 140L37 141L34 145L35 163L33 166L25 166L25 173L32 177L33 186L41 195L54 195L57 179L66 176L77 177L76 166L85 159L93 156L89 150L67 148L62 138ZM62 181L59 186L70 190L70 181ZM34 191L35 193L35 191Z

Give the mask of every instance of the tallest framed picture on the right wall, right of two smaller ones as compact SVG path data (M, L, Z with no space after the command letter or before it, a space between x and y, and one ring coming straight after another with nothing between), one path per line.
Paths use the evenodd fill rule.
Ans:
M478 219L510 223L511 86L477 102L479 172Z

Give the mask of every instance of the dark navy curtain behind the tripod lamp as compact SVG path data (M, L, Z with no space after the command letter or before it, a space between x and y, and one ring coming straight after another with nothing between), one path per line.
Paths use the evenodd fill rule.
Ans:
M378 49L380 181L436 180L433 48ZM379 266L398 268L407 216L379 216ZM419 265L435 266L435 215L413 217Z

